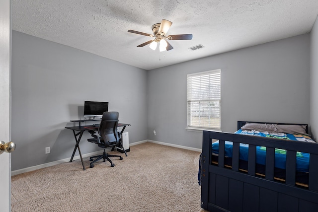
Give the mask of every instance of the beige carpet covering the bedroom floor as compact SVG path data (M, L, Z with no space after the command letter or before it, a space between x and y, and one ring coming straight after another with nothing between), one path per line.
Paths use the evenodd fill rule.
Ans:
M155 143L128 157L80 160L12 176L12 212L205 212L197 173L200 152ZM112 152L113 153L113 152Z

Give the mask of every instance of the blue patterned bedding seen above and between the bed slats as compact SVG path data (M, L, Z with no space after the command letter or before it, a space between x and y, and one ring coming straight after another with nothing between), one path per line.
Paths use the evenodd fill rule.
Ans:
M275 133L267 133L267 132L242 131L242 130L237 131L235 134L276 138L276 139L283 139L283 140L315 142L311 140L310 137L303 136L303 135L282 134L282 133L275 134ZM233 142L225 141L225 156L226 157L232 157L233 155L232 147L233 147ZM212 153L214 155L219 154L219 141L212 143ZM301 171L301 172L309 171L309 156L310 156L309 153L297 152L296 171ZM239 159L248 161L248 144L244 144L244 143L239 144ZM265 165L265 160L266 160L266 147L256 146L256 163ZM286 150L285 149L275 149L275 167L286 169Z

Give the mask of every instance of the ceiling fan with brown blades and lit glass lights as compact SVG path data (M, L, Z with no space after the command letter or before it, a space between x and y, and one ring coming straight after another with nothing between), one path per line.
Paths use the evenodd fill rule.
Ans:
M152 26L152 30L154 33L153 35L148 34L148 33L144 33L144 32L138 32L135 30L128 30L128 32L155 38L154 40L150 40L150 41L147 41L145 43L142 43L137 47L143 47L143 46L150 44L150 48L152 50L156 50L157 45L159 43L160 52L165 51L165 50L169 51L169 50L173 49L173 47L169 44L169 42L167 40L191 40L192 39L192 34L166 35L171 24L172 24L171 21L162 19L161 23L156 23Z

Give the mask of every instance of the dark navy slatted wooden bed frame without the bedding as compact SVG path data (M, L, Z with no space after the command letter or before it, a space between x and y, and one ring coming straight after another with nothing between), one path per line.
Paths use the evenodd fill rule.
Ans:
M238 121L238 130L244 124L245 122ZM308 126L306 130L308 131ZM212 140L219 140L218 162L214 164L212 163ZM232 166L225 164L225 141L233 141ZM239 143L249 144L246 171L239 169ZM255 171L256 146L266 146L267 149L265 177L260 177ZM283 182L274 179L275 148L287 150L286 178ZM310 153L309 183L305 186L298 186L296 181L297 151ZM211 212L318 211L318 143L287 142L279 139L203 131L200 163L201 208L205 210Z

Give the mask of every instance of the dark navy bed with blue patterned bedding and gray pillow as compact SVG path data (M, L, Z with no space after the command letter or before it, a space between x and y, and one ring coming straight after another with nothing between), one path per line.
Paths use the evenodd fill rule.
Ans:
M254 125L288 125L304 131L279 138L281 132L248 128ZM250 135L254 133L260 135ZM318 143L309 137L306 124L238 121L236 133L203 131L199 165L205 210L318 211Z

